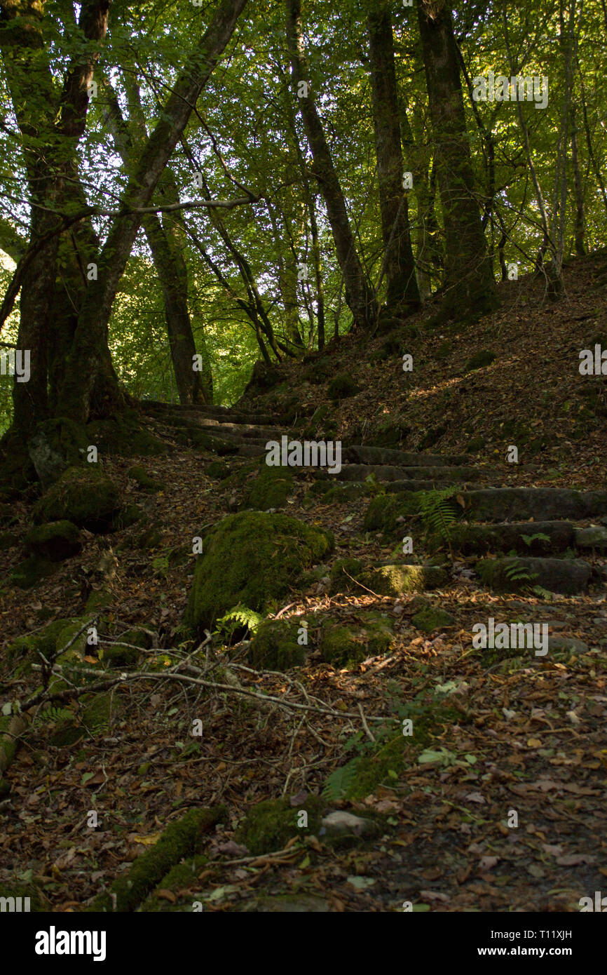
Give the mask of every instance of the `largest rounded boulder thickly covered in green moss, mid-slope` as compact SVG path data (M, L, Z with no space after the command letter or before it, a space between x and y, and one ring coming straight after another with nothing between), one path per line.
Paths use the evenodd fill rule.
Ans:
M238 604L261 612L332 547L329 532L286 515L228 515L210 533L205 553L196 561L186 629L195 634L212 629L219 616Z

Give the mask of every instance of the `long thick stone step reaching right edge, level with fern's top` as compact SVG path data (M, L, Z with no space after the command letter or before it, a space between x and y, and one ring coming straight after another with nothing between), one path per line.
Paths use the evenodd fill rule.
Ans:
M388 489L392 489L390 486ZM527 518L582 521L607 514L607 491L564 487L487 487L463 493L468 521L504 522ZM533 534L532 526L529 533Z

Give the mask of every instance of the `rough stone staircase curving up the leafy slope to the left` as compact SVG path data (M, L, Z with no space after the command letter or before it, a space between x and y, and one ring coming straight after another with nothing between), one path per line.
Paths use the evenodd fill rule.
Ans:
M195 446L218 455L261 457L268 441L304 437L276 417L244 409L148 404L147 411L183 432ZM310 439L310 438L308 438ZM500 475L470 463L466 454L418 453L396 448L342 444L342 468L293 468L290 474L343 487L344 500L368 493L369 480L381 490L371 498L364 527L383 529L395 540L418 539L427 565L436 558L474 559L474 572L488 588L516 591L533 584L572 595L589 586L605 590L607 578L607 490L561 487L503 487ZM498 485L496 487L496 484ZM322 485L319 485L322 493ZM420 519L418 492L445 491L451 517L442 536L428 535ZM416 496L417 495L417 496ZM594 520L597 524L589 525ZM590 558L592 561L587 561ZM397 564L395 564L397 565ZM398 566L405 567L404 562ZM419 558L415 565L419 565ZM430 573L432 577L432 573Z

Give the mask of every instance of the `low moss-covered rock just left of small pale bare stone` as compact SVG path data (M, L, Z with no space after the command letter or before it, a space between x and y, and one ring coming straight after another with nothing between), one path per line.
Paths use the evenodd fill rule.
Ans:
M251 856L284 849L293 837L318 836L326 806L319 796L307 796L301 805L288 799L265 800L248 810L236 831L236 841L247 846ZM300 811L308 813L308 826L298 826Z

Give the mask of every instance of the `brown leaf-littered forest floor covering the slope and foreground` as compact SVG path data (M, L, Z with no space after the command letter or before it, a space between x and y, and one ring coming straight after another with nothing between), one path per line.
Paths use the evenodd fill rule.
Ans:
M397 429L399 448L469 452L471 463L486 467L488 478L497 472L504 486L604 489L607 376L585 381L578 367L580 351L601 336L607 348L607 254L571 262L565 286L563 300L551 304L540 281L508 282L500 289L502 307L467 328L426 331L427 310L407 320L399 348L394 336L391 344L391 336L363 342L351 334L303 365L283 364L272 388L249 390L239 407L280 416L296 397L299 418L326 404L327 434L335 440L379 438L390 445ZM467 371L479 350L493 353L494 361ZM414 368L404 372L401 354L409 351ZM327 389L339 373L348 373L359 391L335 402ZM153 547L141 547L140 526L111 536L89 532L83 552L35 589L5 582L4 645L54 618L82 617L108 545L116 557L108 580L112 601L104 610L109 620L125 630L147 628L157 647L182 640L194 557L173 564L171 553L191 552L193 535L239 510L255 464L223 458L242 474L217 481L206 474L212 453L184 446L162 417L145 422L170 448L140 461L165 489L143 494L128 478L133 457L107 457L104 471L158 528ZM511 445L518 447L517 464L506 459ZM311 502L312 483L296 479L285 511L332 531L331 562L394 557L398 539L364 529L367 497L344 506L319 494ZM13 531L25 531L29 507L16 503ZM17 548L2 553L7 573L19 558ZM604 565L599 557L594 562ZM185 910L193 899L209 911L280 910L288 895L288 909L300 911L400 911L404 902L449 912L578 911L581 897L607 883L605 586L579 596L495 595L466 571L466 559L458 565L457 577L428 598L456 623L429 635L411 622L419 608L415 596L331 594L323 577L285 599L283 618L316 621L311 632L322 618L356 623L370 608L391 620L389 653L356 668L335 669L313 649L307 665L287 678L239 672L245 687L301 702L296 680L330 714L312 710L302 717L278 706L260 712L229 692L192 694L167 680L119 687L109 730L68 747L49 744L48 727L34 722L0 794L0 885L17 878L36 885L47 910L82 910L168 822L189 808L223 803L227 814L209 839L207 862L189 881L157 891L166 910ZM578 641L577 652L487 667L472 650L474 621L512 612ZM213 647L218 659L220 643ZM247 643L229 656L246 663ZM5 668L3 699L22 694L26 683ZM329 803L379 816L380 837L343 846L322 835L294 838L278 853L257 856L235 839L254 803L285 796L299 808L345 761L372 755L372 718L394 722L412 703L426 713L447 698L461 721L439 721L431 744L406 767L388 769L364 799ZM338 717L359 709L366 730L356 718ZM204 736L193 741L196 717L204 719ZM87 827L92 809L96 829Z

